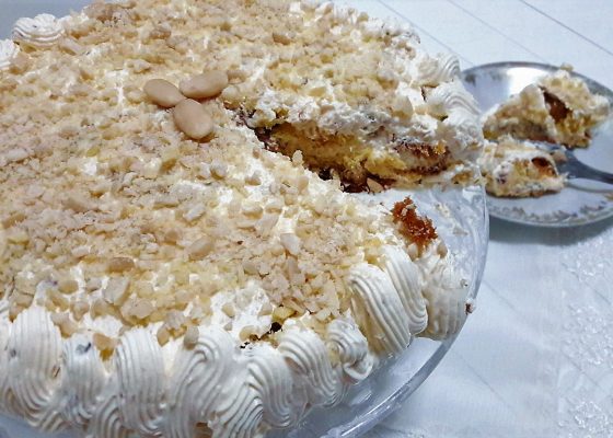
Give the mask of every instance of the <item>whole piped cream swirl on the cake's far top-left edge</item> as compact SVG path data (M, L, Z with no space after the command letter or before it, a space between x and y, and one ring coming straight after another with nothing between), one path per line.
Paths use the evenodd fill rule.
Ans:
M61 22L51 14L39 14L35 18L19 19L12 37L15 42L34 48L54 46L63 35Z

